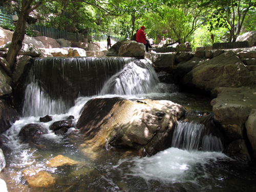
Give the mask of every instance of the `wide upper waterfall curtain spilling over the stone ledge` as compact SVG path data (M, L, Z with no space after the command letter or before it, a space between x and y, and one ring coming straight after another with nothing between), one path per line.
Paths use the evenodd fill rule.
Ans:
M23 116L65 113L81 96L135 95L165 90L148 59L37 58L29 73Z

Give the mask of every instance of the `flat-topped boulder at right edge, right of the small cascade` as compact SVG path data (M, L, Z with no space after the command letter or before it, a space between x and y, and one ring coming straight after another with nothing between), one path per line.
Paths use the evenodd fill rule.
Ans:
M248 138L251 138L250 142L253 145L252 138L254 138L255 131L252 124L253 111L251 112L251 110L256 109L255 93L255 86L242 88L219 87L212 90L212 94L218 95L211 100L212 111L215 114L214 118L222 125L229 141L244 139L244 124L247 121L247 135Z

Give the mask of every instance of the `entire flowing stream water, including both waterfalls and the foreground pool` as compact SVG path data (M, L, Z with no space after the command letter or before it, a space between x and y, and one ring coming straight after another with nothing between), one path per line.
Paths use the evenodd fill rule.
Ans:
M79 90L71 91L74 95L68 90L74 82L67 81L68 78L79 83ZM57 97L59 93L61 96ZM76 99L69 99L72 96ZM116 96L166 99L183 105L186 117L177 122L172 147L152 157L125 158L129 151L105 150L95 154L88 148L87 153L82 153L82 140L79 134L74 134L75 127L63 136L49 130L37 144L22 142L18 137L20 129L28 123L41 123L49 128L54 121L69 115L75 117L76 123L88 100ZM209 102L203 96L179 93L173 84L160 83L147 59L37 59L29 75L23 117L2 134L7 166L1 178L7 181L9 192L256 191L253 170L221 153L221 133L212 121ZM39 117L45 115L51 115L53 120L39 122ZM80 163L61 168L46 166L57 155ZM52 174L55 185L30 187L23 177L28 168Z

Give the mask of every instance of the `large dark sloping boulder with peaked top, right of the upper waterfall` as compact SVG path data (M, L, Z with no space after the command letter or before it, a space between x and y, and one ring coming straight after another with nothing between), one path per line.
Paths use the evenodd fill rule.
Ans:
M201 62L183 78L184 84L211 91L216 87L242 87L253 84L250 71L233 51Z

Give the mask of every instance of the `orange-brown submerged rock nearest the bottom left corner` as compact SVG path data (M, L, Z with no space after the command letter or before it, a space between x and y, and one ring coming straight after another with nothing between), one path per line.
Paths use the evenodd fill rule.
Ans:
M25 180L31 187L49 188L55 184L55 178L51 174L37 169L26 169L23 171Z

